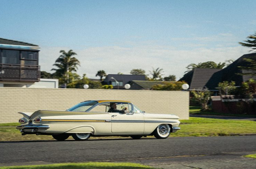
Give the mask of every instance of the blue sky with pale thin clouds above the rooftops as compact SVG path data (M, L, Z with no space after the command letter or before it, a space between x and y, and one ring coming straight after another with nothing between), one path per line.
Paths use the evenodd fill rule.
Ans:
M178 80L188 64L248 53L238 41L256 32L255 9L255 0L1 0L0 37L39 45L43 71L73 49L80 75L160 67Z

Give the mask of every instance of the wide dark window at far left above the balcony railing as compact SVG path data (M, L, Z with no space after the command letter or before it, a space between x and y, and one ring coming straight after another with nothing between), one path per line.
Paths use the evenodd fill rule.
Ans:
M2 52L3 64L20 64L20 51L3 49Z

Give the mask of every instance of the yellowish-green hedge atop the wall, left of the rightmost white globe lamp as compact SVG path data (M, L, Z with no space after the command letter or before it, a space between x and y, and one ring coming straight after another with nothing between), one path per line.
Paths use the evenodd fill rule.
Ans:
M169 90L169 91L181 91L182 85L186 83L185 81L178 82L162 82L163 84L158 84L152 86L153 90Z

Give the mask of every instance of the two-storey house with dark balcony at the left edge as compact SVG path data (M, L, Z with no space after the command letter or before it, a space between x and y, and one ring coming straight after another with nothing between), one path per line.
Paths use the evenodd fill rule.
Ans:
M58 80L40 79L39 49L38 45L0 38L0 87L58 86Z

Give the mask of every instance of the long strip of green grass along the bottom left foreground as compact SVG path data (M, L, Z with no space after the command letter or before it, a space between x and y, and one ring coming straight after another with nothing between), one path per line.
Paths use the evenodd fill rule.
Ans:
M11 167L1 167L1 169L66 169L66 168L88 168L88 169L144 169L151 168L149 166L144 166L137 163L130 162L84 162L84 163L64 163L64 164L51 164L51 165L34 165L34 166L11 166Z

